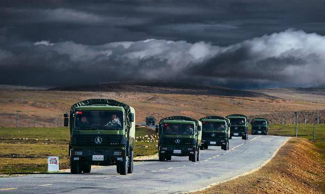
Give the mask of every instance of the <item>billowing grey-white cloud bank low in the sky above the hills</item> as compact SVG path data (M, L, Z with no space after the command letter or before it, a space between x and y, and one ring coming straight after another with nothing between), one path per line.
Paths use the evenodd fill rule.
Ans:
M0 46L0 83L154 80L235 88L317 87L325 85L324 53L324 36L292 29L229 46L156 39L100 45L20 41Z

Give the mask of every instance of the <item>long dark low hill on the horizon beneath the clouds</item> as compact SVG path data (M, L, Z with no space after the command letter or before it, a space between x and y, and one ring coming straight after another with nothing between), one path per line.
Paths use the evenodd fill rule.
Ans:
M272 98L274 96L261 92L238 90L212 85L186 84L176 82L109 82L100 84L74 85L65 87L55 87L49 90L60 91L114 91L114 92L148 92L148 93L177 93L177 94L202 94L202 95L222 95L240 97L261 97Z

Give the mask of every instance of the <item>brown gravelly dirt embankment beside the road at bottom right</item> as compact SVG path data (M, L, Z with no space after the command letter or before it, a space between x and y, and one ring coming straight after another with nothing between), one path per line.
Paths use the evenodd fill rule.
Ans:
M324 160L311 142L292 138L260 170L193 193L323 193Z

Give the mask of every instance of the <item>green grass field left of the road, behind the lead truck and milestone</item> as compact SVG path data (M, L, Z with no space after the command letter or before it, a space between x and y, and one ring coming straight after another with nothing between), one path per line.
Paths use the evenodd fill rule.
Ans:
M154 135L137 126L135 156L157 152ZM69 168L69 139L67 128L0 128L0 174L46 172L51 155L59 157L60 169Z

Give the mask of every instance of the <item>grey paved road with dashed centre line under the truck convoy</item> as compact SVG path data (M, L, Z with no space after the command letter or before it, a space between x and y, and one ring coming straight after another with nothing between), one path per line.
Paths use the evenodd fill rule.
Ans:
M132 175L118 175L116 167L94 169L90 174L36 174L0 178L0 192L10 193L174 193L199 189L261 166L286 140L279 136L233 138L229 151L209 147L200 161L172 157L172 161L139 161ZM7 190L6 190L7 189Z

